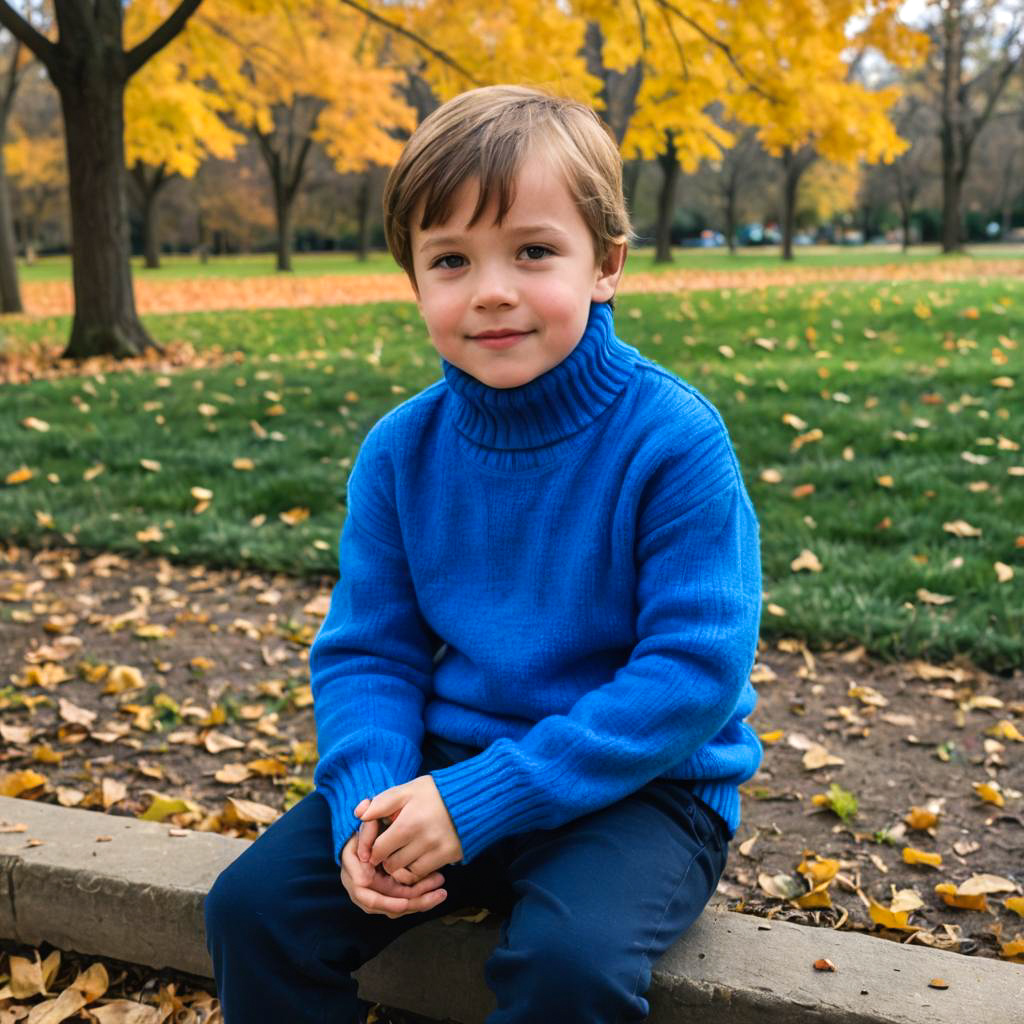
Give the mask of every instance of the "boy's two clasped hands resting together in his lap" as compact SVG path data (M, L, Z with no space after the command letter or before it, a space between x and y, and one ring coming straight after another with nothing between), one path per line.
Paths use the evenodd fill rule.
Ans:
M446 898L437 868L462 860L462 843L430 775L362 800L353 813L362 824L342 847L341 883L356 906L400 918Z

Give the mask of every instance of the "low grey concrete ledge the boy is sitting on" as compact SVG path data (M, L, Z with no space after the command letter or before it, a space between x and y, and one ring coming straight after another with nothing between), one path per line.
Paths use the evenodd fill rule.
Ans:
M0 798L0 825L12 823L28 827L0 834L0 936L212 977L203 899L247 841L172 837L154 822ZM360 994L482 1022L494 1009L483 965L499 928L493 918L415 928L357 972ZM836 973L812 968L821 956ZM935 977L949 988L929 988ZM1024 970L708 909L655 966L647 998L652 1024L696 1013L718 1024L1020 1024Z

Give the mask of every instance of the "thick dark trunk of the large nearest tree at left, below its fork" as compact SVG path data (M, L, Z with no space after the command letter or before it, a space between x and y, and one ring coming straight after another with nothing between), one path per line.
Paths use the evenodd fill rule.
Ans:
M68 148L75 319L65 358L162 351L135 311L124 160L124 76L97 47L58 85Z

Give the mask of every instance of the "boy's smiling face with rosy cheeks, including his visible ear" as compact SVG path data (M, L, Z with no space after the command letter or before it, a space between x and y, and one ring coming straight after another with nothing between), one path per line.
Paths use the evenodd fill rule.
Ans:
M440 355L490 387L518 387L575 348L591 302L614 295L626 247L597 263L590 230L549 160L523 166L500 227L497 197L469 226L478 191L475 178L464 181L447 223L425 231L422 201L413 211L414 287ZM488 334L508 337L488 342Z

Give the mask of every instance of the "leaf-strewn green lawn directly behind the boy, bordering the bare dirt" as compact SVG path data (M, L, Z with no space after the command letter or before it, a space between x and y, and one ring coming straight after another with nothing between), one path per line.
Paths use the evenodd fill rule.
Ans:
M1024 664L1024 283L722 290L616 306L621 337L690 381L729 427L761 521L763 637L860 643L883 657L959 653L991 671ZM336 572L362 437L440 376L415 306L146 323L221 365L0 388L0 481L32 473L0 483L0 537ZM14 344L20 332L66 331L67 318L8 328ZM238 459L254 468L232 468ZM197 486L213 494L198 514ZM793 568L805 551L820 570Z

